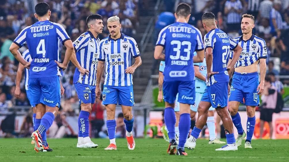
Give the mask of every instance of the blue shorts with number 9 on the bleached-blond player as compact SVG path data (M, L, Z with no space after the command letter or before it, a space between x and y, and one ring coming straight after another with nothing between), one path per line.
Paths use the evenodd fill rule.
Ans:
M134 106L133 86L103 85L102 104Z

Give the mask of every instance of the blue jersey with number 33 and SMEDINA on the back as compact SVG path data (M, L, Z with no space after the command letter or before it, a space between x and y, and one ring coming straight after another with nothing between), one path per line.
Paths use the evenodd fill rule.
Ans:
M195 51L204 49L201 32L187 23L176 22L163 28L156 45L165 49L164 81L193 81Z

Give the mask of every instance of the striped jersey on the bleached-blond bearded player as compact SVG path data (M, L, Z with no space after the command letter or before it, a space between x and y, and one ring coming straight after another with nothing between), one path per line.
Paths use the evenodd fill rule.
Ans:
M104 85L129 86L133 85L132 75L126 74L125 69L131 66L131 56L140 56L138 45L134 38L121 34L119 39L110 36L100 41L99 61L105 61Z

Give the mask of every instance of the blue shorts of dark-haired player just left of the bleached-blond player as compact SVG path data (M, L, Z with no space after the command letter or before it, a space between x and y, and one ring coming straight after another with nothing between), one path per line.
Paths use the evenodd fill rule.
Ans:
M93 104L95 102L95 85L74 83L79 104Z

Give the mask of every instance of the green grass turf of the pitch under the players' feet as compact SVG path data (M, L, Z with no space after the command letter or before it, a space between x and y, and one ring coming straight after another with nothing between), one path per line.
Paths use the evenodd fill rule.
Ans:
M215 151L222 145L208 144L208 140L199 139L195 150L186 150L187 157L167 155L168 143L163 139L135 139L135 150L128 150L125 139L116 139L117 150L109 151L103 150L109 144L108 139L92 139L99 147L90 149L76 148L77 139L48 139L48 141L53 152L36 153L28 138L0 138L0 161L289 161L289 140L253 140L253 149L244 149L243 141L238 151Z

